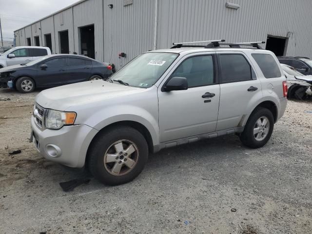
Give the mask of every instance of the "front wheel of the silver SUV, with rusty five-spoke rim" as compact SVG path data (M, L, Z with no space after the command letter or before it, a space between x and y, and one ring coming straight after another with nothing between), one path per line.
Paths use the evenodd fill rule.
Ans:
M133 153L127 155L127 152ZM127 126L99 133L88 151L91 174L106 185L132 181L142 172L147 159L148 145L145 138L136 129Z

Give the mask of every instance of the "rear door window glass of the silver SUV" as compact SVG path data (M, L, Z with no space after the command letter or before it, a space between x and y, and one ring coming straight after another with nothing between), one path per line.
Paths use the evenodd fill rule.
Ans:
M252 68L243 55L220 55L222 82L251 80Z

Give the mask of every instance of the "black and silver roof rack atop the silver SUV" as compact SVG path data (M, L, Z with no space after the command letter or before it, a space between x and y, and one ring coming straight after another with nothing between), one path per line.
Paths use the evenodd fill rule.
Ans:
M221 48L220 45L228 45L231 48L240 48L240 46L252 46L257 49L263 49L259 44L264 44L265 41L251 41L251 42L236 42L236 43L219 43L224 42L224 39L220 40L202 40L202 41L190 41L190 42L175 42L172 43L174 46L171 47L171 49L174 48L181 48L181 47L204 47L204 48ZM209 42L206 46L204 45L185 45L185 44L192 44L192 43L205 43Z

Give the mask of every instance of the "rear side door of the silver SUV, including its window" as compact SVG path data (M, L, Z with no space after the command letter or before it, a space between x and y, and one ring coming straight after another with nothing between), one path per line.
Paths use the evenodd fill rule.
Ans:
M216 131L239 126L262 99L261 82L248 57L239 51L217 54L220 106Z

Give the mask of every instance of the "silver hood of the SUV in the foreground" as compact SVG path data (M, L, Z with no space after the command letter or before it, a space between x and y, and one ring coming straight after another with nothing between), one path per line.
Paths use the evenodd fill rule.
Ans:
M75 111L75 106L88 105L93 102L100 104L108 99L127 98L131 94L144 91L143 88L104 80L92 80L44 90L38 94L36 102L48 109Z

